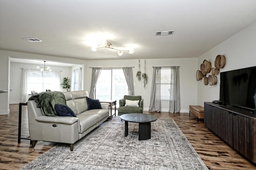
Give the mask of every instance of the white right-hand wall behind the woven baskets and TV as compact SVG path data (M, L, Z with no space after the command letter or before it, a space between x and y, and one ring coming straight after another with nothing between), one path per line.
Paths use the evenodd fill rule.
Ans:
M226 57L226 66L220 69L220 72L256 66L256 22L201 55L198 58L197 69L193 72L196 73L196 70L200 70L200 64L204 59L210 61L213 67L217 55ZM204 102L219 100L220 74L217 75L217 78L218 82L214 86L205 86L202 80L198 81L198 105L204 106ZM194 78L194 81L196 81L196 78Z

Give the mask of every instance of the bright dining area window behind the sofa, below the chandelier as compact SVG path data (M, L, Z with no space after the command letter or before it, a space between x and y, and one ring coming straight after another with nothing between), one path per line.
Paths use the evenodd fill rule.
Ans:
M26 71L27 75L27 94L31 90L36 92L45 92L50 89L51 91L60 91L60 72L59 71L40 71L29 70Z

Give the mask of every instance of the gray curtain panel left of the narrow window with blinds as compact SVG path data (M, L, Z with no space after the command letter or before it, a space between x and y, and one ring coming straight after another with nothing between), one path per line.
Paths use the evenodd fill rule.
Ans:
M161 67L153 68L149 111L161 111Z

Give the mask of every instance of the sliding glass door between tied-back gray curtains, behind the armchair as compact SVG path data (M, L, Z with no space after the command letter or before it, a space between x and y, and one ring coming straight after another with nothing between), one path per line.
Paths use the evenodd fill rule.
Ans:
M102 69L96 85L96 99L119 101L124 95L128 95L128 86L123 70Z

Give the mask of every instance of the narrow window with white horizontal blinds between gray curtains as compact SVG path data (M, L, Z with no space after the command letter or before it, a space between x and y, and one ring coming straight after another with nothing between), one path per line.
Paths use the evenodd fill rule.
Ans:
M173 85L174 85L174 72L170 67L161 68L161 100L172 100L173 94Z

